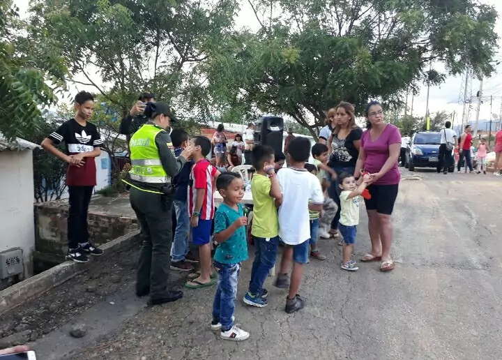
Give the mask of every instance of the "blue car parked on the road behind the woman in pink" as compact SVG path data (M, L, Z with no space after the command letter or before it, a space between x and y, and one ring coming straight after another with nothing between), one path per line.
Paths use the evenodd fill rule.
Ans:
M415 167L437 167L440 144L441 133L439 131L417 131L406 147L404 167L410 171L415 171ZM452 164L448 172L453 172L454 169L455 165Z

